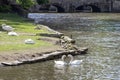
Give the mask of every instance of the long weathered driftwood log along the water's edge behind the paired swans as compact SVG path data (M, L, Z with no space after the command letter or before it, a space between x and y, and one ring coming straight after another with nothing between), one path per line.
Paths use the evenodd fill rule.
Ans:
M29 63L35 63L35 62L41 62L41 61L60 58L61 55L68 55L68 54L80 55L80 54L86 53L87 50L88 50L88 48L79 49L78 51L76 51L76 50L55 51L55 52L48 53L48 54L45 53L39 57L33 57L32 59L20 59L20 60L11 61L11 62L1 62L0 65L1 66L18 66L21 64L29 64Z

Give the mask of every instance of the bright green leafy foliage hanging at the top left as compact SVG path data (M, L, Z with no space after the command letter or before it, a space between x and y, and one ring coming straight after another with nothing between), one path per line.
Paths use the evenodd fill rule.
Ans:
M20 4L24 9L28 9L35 4L34 0L16 0L16 2Z

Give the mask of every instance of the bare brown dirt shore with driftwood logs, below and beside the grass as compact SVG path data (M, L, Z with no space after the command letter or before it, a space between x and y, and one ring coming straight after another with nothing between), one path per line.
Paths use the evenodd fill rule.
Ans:
M61 55L68 55L68 54L80 55L87 52L88 48L77 48L77 46L74 45L75 43L74 40L72 40L67 36L63 36L63 35L60 36L59 34L62 33L54 31L49 27L47 28L48 30L52 30L53 33L54 32L56 33L50 35L48 35L49 33L44 33L44 36L41 36L41 38L39 38L38 40L47 41L48 43L52 43L54 46L51 47L42 46L39 48L31 48L26 50L17 50L17 51L13 50L9 52L8 51L2 52L2 54L0 54L0 65L17 66L21 64L28 64L28 63L35 63L35 62L56 59L56 58L60 58Z

